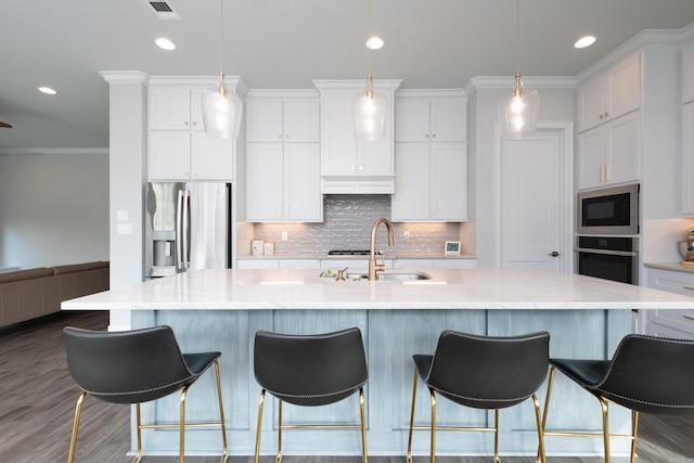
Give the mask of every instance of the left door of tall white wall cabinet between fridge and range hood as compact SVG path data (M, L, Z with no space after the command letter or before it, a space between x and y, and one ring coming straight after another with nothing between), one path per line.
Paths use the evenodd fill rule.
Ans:
M283 218L281 143L249 143L246 157L246 216L249 222Z

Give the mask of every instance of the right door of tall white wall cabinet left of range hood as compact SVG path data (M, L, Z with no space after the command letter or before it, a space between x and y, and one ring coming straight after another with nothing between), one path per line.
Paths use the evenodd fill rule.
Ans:
M284 219L320 222L323 220L320 147L311 143L284 145Z

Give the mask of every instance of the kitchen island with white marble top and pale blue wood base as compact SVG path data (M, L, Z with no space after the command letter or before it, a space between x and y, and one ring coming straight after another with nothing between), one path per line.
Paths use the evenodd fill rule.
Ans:
M63 310L126 310L131 327L169 324L184 351L222 351L221 370L231 454L253 454L257 400L253 374L253 340L258 330L324 333L359 326L364 338L370 380L367 385L368 446L372 455L403 455L407 449L412 394L413 353L433 353L442 330L488 335L514 335L547 330L553 357L612 357L630 332L631 309L690 309L694 298L589 276L513 270L423 271L428 280L346 281L320 278L316 270L195 270L129 287L63 303ZM553 389L548 428L601 428L595 399L565 378ZM213 375L189 393L188 416L211 420ZM544 388L540 390L543 400ZM147 419L176 421L176 398L143 409ZM275 401L268 401L277 414ZM156 409L155 409L156 408ZM264 454L275 449L277 420L264 420ZM428 421L425 394L417 396L416 421ZM357 417L357 399L327 408L286 407L285 420L344 422ZM440 400L438 423L486 425L493 414ZM615 408L611 427L629 428L630 413ZM537 434L530 402L501 412L501 454L532 455ZM220 447L218 432L193 430L187 450L210 454ZM274 435L274 436L271 436ZM143 434L145 451L174 454L176 430ZM489 433L445 433L437 436L440 455L489 455ZM622 445L620 447L620 445ZM615 452L626 453L626 441ZM601 439L549 437L548 454L601 454ZM428 435L417 432L413 452L428 453ZM322 430L287 433L285 454L358 455L359 433Z

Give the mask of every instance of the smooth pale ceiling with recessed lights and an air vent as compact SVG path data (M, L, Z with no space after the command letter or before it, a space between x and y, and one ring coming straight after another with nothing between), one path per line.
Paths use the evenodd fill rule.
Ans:
M108 146L108 86L100 70L219 74L219 1L0 2L0 154ZM373 76L403 88L463 87L515 74L513 0L372 0ZM644 29L694 22L692 0L522 0L520 74L576 76ZM583 50L573 43L592 34ZM154 39L166 36L177 50ZM367 0L224 0L224 72L255 88L312 88L367 76ZM50 86L47 97L37 87Z

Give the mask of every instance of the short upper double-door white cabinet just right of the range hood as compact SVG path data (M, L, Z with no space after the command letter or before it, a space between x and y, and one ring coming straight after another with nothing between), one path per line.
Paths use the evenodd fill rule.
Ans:
M397 93L396 142L465 141L466 130L467 100L462 91Z

